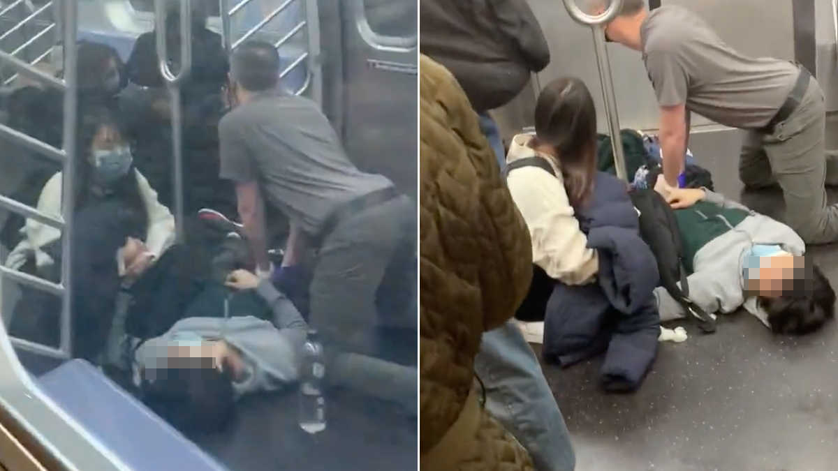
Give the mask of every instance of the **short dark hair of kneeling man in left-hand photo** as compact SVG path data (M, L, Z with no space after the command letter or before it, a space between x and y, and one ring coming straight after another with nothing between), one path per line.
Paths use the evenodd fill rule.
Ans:
M246 91L269 91L279 84L279 51L264 41L247 41L233 51L233 80Z

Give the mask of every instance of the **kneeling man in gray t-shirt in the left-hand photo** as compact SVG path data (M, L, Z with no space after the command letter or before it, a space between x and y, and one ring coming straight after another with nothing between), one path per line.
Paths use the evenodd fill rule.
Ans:
M316 252L309 323L331 345L375 353L377 327L396 316L378 312L379 294L409 298L415 288L416 208L389 179L349 161L316 103L277 91L272 44L242 44L230 63L235 107L219 125L220 176L235 182L258 273L295 277L302 252ZM264 204L291 225L276 270L267 256ZM413 286L392 286L400 282Z

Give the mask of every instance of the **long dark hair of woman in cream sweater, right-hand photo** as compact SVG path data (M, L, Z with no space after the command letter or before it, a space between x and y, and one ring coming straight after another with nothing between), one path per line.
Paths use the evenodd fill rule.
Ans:
M535 103L533 148L550 148L574 208L585 204L597 171L597 108L574 77L551 81Z

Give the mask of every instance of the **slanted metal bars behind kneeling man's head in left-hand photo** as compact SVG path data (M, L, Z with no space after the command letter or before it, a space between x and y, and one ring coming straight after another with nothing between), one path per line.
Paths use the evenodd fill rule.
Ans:
M279 49L283 44L287 44L294 36L303 32L306 35L306 43L313 44L313 40L311 38L312 32L311 28L309 28L310 20L308 19L308 10L311 8L311 5L303 0L285 0L280 4L277 8L274 8L271 13L266 14L265 18L262 18L259 23L256 23L255 26L250 28L245 34L242 34L241 38L234 39L233 38L233 31L232 31L232 18L241 13L242 10L251 3L252 0L241 0L241 2L236 3L235 6L230 8L230 0L219 0L219 7L220 7L220 14L221 14L221 35L224 37L224 44L225 48L227 49L227 54L229 55L235 48L239 47L243 44L246 40L251 39L256 33L261 31L263 28L266 27L268 23L271 23L274 18L277 18L282 12L287 10L293 3L299 2L303 5L304 12L306 13L306 19L303 19L299 23L297 23L291 30L289 30L286 34L282 36L276 43L274 43L274 47ZM297 67L306 64L308 68L306 70L306 79L303 81L303 85L301 85L297 90L293 91L295 95L303 95L306 91L308 91L309 87L312 85L313 82L313 60L315 60L315 51L312 50L311 47L308 48L308 51L303 52L302 54L298 55L297 58L292 60L291 64L287 65L287 67L283 68L279 73L280 80L284 79L287 75L291 74L291 72L296 69ZM318 99L319 97L315 97Z

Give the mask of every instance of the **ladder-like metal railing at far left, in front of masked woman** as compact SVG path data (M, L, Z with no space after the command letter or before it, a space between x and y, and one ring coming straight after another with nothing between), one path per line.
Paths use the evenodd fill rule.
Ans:
M39 11L51 7L52 2L44 4ZM75 44L77 36L77 18L76 8L72 0L65 0L65 15L67 27L64 28L64 42L65 44ZM0 12L3 13L3 12ZM34 14L29 18L34 18ZM61 325L60 325L60 342L59 348L54 349L45 345L34 344L23 339L12 339L12 343L20 349L34 351L42 355L49 355L57 358L70 358L72 356L72 345L70 339L72 338L72 324L70 322L70 310L72 299L72 280L70 278L70 266L72 259L72 243L69 236L72 231L72 215L75 206L75 193L73 191L73 182L75 181L75 165L73 160L75 158L75 126L76 126L76 111L77 111L77 96L76 91L76 51L75 48L68 48L65 51L65 74L64 80L56 79L55 77L34 68L23 60L19 60L14 54L0 51L0 64L7 65L13 70L16 70L19 75L27 76L32 80L38 80L44 85L52 86L60 91L64 91L64 123L63 123L63 150L53 148L44 142L40 142L33 137L28 137L22 132L15 131L11 127L0 124L0 137L7 139L10 142L15 142L23 148L28 148L34 153L40 154L45 158L52 159L62 164L62 189L61 189L61 217L45 215L36 208L20 203L7 196L0 195L0 208L9 210L23 217L37 220L38 222L52 226L62 231L61 238L61 281L59 283L48 282L42 278L34 277L27 273L19 272L13 268L0 266L0 276L4 279L11 279L15 282L22 283L29 287L34 287L45 292L51 292L59 295L62 298L61 302Z

